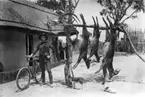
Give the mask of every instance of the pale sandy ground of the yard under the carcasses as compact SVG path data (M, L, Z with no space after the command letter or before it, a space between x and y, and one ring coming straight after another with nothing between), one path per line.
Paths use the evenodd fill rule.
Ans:
M142 56L145 58L145 55ZM74 63L77 58L78 55L75 54ZM77 83L77 89L70 89L64 84L64 65L61 65L52 70L53 87L50 87L49 84L44 86L31 84L28 89L19 91L16 82L12 81L0 85L0 97L145 97L145 63L137 56L114 58L114 68L120 68L121 71L114 76L114 81L107 85L114 89L116 94L102 91L102 72L97 75L93 74L99 65L100 63L92 63L91 68L87 69L84 61L81 61L78 68L74 70L74 74L77 77L83 77L85 82L83 87ZM46 80L48 83L48 77Z

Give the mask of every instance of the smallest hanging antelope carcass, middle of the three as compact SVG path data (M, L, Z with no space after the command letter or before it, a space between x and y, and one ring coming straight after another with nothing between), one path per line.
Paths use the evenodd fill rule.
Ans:
M88 57L88 60L95 55L97 62L100 62L100 57L98 55L98 48L99 48L99 38L100 38L100 31L99 31L99 23L98 23L98 18L96 16L96 21L95 18L93 18L94 21L94 31L93 31L93 39L91 41L91 51L90 55ZM96 23L97 22L97 23Z

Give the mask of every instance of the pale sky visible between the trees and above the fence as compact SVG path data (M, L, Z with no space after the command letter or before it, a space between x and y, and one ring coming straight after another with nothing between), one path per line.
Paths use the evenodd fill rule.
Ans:
M36 1L36 0L29 0L29 1ZM79 14L83 14L85 17L85 20L87 22L87 24L93 24L93 20L92 20L92 16L97 16L99 19L99 24L101 26L105 26L102 18L99 14L99 12L102 10L102 7L97 4L96 2L97 0L80 0L76 10L75 10L75 14L79 16ZM80 19L81 20L81 19ZM139 13L138 14L138 18L136 19L130 19L127 20L126 23L133 29L142 29L142 31L145 31L145 14L143 13ZM81 28L78 29L81 32ZM92 32L93 29L88 29L90 32ZM102 33L100 40L104 41L105 39L105 34Z

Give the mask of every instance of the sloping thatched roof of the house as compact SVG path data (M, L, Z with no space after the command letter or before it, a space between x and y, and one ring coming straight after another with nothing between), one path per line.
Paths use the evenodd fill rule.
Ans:
M0 26L19 27L36 32L63 35L64 26L51 25L48 29L46 25L48 20L49 22L57 21L58 15L52 10L28 1L0 0ZM74 32L76 32L76 29L73 28L72 33Z

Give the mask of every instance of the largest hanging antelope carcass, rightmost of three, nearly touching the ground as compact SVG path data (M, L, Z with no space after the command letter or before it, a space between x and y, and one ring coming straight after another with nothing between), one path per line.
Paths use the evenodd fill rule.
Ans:
M118 28L112 24L112 22L110 21L110 19L108 17L107 17L107 20L110 24L110 32L109 32L109 36L103 47L102 64L101 64L99 70L97 70L95 72L95 74L97 74L103 69L103 75L104 75L103 84L105 84L105 82L106 82L107 69L109 71L109 76L110 76L109 79L111 79L112 76L117 75L120 71L120 70L114 70L114 68L113 68L113 57L114 57L114 53L115 53L114 51L115 51L115 42L116 42L116 30ZM103 21L105 22L105 24L108 28L108 24L104 18L103 18Z

